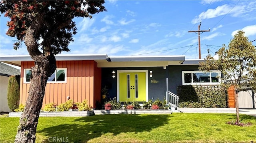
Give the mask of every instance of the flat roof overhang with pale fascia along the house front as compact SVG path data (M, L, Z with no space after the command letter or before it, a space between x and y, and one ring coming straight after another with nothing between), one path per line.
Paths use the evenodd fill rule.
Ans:
M199 64L201 60L185 60L184 55L178 56L108 56L107 54L56 55L56 61L94 60L99 68L124 67L166 67L169 65ZM0 61L20 66L22 61L33 61L29 55L0 56Z

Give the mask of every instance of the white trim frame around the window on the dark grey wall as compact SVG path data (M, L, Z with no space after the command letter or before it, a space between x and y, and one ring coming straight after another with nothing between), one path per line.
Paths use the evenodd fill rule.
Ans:
M210 71L210 78L211 77L211 73L215 72L218 73L219 76L219 82L193 82L193 73L208 73L208 72L204 72L204 71L182 71L182 85L218 85L221 83L221 73L220 71L214 70L214 71ZM184 77L184 73L191 73L192 75L192 83L185 83L185 77ZM212 81L212 80L210 80Z

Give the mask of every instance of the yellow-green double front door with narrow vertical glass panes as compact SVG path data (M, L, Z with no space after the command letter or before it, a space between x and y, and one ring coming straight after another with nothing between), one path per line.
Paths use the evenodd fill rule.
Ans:
M119 101L146 101L146 73L119 73Z

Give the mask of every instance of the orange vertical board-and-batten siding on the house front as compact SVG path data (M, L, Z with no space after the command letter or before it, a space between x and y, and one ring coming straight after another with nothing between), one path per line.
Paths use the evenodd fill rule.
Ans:
M101 99L101 68L92 60L56 61L57 68L67 69L66 83L47 83L43 106L47 103L60 105L69 96L74 102L86 99L89 105L96 107ZM29 83L24 83L24 69L30 69L34 62L21 62L20 103L25 104L28 98Z

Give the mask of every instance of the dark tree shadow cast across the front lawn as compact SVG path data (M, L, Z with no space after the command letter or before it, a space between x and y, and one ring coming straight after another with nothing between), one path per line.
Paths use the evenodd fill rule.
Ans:
M69 142L86 143L90 139L100 137L106 133L118 135L120 133L141 133L151 131L168 123L169 115L94 115L80 117L72 122L38 130L47 137L68 137ZM51 138L52 141L52 138ZM59 140L60 141L60 140ZM45 139L44 142L50 142Z

